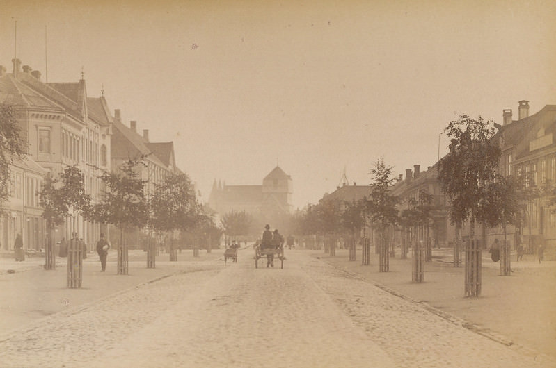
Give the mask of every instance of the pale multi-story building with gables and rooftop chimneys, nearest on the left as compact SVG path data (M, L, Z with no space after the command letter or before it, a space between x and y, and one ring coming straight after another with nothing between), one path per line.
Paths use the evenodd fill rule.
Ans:
M106 100L103 96L87 97L84 78L75 83L44 83L40 77L40 72L28 65L21 68L19 59L13 60L11 74L0 67L0 100L17 109L18 122L29 144L29 162L45 169L45 172L35 170L34 174L26 174L21 184L15 178L16 192L19 189L29 192L28 203L34 208L22 219L20 229L24 246L34 249L42 248L45 243L45 232L40 232L45 224L38 213L42 211L38 210L38 200L35 200L40 181L45 174L56 176L67 165L77 165L84 173L86 193L96 201L100 178L94 167L110 169L111 141L111 116ZM72 232L90 244L96 242L100 225L76 216L56 229L55 240L69 239Z

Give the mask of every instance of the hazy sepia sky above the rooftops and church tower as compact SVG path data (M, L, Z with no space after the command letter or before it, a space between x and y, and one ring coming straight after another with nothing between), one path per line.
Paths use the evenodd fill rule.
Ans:
M319 3L317 5L317 3ZM89 5L86 5L89 4ZM90 97L175 144L208 200L213 180L262 184L279 160L294 205L438 157L466 113L556 103L554 1L25 1L0 6L0 65L48 81L81 67ZM440 155L447 140L440 140Z

